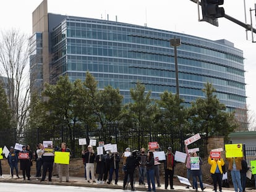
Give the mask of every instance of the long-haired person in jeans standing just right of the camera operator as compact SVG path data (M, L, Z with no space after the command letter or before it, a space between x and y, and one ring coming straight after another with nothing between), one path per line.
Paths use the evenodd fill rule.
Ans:
M148 190L147 191L151 191L151 185L152 185L153 192L156 191L154 164L155 164L154 154L153 154L152 151L148 151L148 158L147 158L147 161L146 161L147 183L148 183Z

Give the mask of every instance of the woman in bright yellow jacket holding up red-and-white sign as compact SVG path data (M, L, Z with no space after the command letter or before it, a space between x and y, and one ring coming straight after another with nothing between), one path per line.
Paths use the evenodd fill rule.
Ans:
M219 184L219 189L220 192L222 191L222 167L225 162L222 158L220 159L211 159L211 157L208 157L208 164L211 165L210 173L211 173L211 178L213 179L213 187L214 191L217 191L217 182Z

